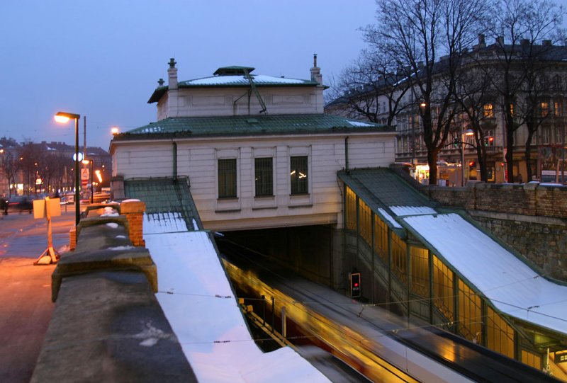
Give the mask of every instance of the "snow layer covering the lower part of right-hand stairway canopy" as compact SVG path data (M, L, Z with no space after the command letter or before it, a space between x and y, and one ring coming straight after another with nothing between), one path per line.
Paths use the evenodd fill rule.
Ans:
M460 215L417 215L403 220L498 310L567 333L566 286L542 278Z

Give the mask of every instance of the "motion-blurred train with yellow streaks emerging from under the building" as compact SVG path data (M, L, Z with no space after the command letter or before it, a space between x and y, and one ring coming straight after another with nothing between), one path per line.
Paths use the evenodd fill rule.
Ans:
M216 242L241 298L273 304L278 316L284 308L284 320L303 334L298 338L312 340L374 382L559 382L440 328L410 323L298 277L228 239Z

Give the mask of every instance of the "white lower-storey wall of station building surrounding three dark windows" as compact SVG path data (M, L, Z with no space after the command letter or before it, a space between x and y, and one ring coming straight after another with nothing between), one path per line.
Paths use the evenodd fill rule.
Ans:
M359 133L348 139L349 168L388 166L394 134ZM177 173L189 176L203 224L211 230L330 224L341 220L337 171L345 168L345 135L177 139ZM309 159L308 195L290 195L290 156ZM271 156L274 196L254 197L254 158ZM217 164L237 159L237 198L218 199ZM113 175L128 178L173 176L168 141L114 142Z

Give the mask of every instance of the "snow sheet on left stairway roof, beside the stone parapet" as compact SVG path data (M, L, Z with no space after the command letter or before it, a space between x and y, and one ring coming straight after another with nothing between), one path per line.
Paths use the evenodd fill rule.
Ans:
M172 213L145 215L143 231L156 297L198 381L329 382L291 348L257 347L208 234L180 224Z

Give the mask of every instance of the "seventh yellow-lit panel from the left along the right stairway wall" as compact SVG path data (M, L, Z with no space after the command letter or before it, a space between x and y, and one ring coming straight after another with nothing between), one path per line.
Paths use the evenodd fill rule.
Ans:
M459 279L459 334L480 343L482 322L481 297Z

